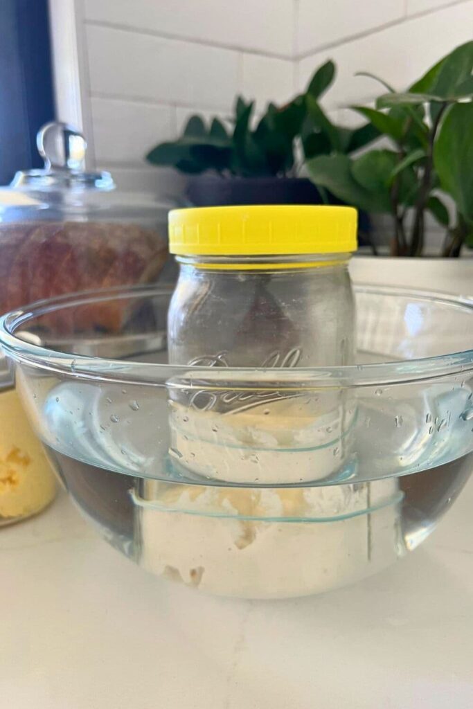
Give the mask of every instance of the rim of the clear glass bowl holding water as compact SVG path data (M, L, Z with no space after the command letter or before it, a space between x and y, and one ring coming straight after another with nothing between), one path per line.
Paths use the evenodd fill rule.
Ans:
M473 316L473 298L454 296L436 291L423 291L398 286L355 284L355 291L380 296L404 296L428 300L445 306L464 308ZM170 296L172 288L160 284L146 286L117 286L95 289L36 301L29 306L6 313L0 318L0 345L16 362L55 372L76 379L94 379L113 383L148 384L163 386L170 376L186 375L187 386L192 380L201 382L208 377L218 383L216 388L240 386L267 388L329 388L334 386L386 386L409 382L439 379L440 377L473 372L473 350L452 352L435 357L398 360L382 364L351 364L345 367L280 367L274 369L252 367L189 367L174 364L149 364L104 357L88 357L40 347L23 340L14 333L20 325L34 318L54 313L62 308L72 308L115 298L145 298ZM472 320L473 325L473 320ZM473 330L472 330L473 331Z

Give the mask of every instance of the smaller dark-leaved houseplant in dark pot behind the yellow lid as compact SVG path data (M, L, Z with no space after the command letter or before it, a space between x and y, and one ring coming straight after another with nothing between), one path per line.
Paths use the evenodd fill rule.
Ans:
M192 116L182 135L148 152L148 162L189 174L187 196L201 206L235 203L338 201L300 177L304 161L350 154L379 135L368 122L357 130L335 125L318 103L335 77L333 62L313 74L306 91L284 106L269 104L255 121L254 101L238 97L233 116L206 125Z

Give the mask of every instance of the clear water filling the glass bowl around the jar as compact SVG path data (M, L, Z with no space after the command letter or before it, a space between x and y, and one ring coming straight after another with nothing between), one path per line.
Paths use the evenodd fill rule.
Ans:
M472 398L462 386L416 398L415 411L405 403L394 411L384 391L358 401L356 452L325 479L282 487L192 474L179 452L169 455L156 396L138 387L117 396L87 383L55 386L44 407L55 432L46 448L77 506L114 547L212 593L300 596L372 574L432 532L473 466ZM402 474L389 474L390 464Z

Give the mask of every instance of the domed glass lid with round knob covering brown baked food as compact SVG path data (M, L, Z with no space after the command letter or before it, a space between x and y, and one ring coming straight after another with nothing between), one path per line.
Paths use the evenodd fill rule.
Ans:
M71 125L43 125L37 145L44 168L18 172L0 189L0 313L162 277L168 207L121 191L108 172L88 171L87 142ZM116 326L113 313L101 326Z

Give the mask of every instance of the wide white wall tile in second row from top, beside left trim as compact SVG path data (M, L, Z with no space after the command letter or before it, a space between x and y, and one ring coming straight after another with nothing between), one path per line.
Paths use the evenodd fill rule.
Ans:
M238 88L238 52L87 27L91 91L227 108Z

